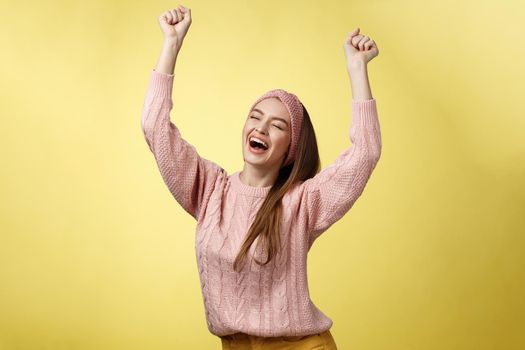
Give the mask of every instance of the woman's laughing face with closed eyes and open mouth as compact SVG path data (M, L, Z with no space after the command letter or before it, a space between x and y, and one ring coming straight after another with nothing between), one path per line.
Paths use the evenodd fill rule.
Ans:
M280 168L291 142L290 115L285 105L276 97L257 103L246 118L242 136L244 161ZM264 141L268 148L251 147L252 137Z

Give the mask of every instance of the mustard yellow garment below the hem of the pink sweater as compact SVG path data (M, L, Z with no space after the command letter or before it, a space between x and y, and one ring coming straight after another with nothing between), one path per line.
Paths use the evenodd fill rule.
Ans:
M330 330L304 336L258 337L235 333L220 338L222 350L337 350Z

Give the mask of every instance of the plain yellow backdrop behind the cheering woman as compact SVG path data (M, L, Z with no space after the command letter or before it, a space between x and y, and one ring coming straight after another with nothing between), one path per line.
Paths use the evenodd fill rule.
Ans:
M195 222L141 131L168 1L16 1L0 22L0 349L220 349ZM271 88L296 93L322 166L350 141L343 40L368 65L383 149L309 255L340 349L525 348L520 1L190 1L172 121L242 168Z

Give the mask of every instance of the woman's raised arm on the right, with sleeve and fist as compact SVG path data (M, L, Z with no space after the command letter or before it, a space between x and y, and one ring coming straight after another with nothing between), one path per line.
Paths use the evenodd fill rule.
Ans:
M350 33L344 46L352 85L352 122L349 128L352 145L333 164L300 185L301 208L307 218L310 245L350 210L381 155L377 105L367 76L367 62L377 56L378 51L375 43L366 36L357 35L358 31Z

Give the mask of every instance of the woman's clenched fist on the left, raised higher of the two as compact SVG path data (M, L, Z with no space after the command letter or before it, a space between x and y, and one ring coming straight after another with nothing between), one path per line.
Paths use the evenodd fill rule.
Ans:
M159 25L164 35L164 40L170 40L179 46L182 45L190 24L191 10L182 5L163 12L159 16Z

